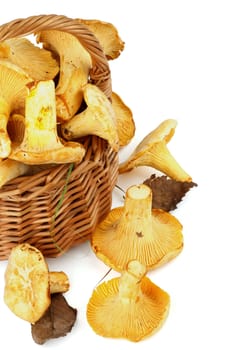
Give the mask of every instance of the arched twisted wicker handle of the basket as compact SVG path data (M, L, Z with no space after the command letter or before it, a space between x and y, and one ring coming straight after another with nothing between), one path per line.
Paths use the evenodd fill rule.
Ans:
M43 30L60 30L75 35L92 58L90 79L111 99L111 73L103 49L89 28L63 15L38 15L19 18L0 26L0 42Z

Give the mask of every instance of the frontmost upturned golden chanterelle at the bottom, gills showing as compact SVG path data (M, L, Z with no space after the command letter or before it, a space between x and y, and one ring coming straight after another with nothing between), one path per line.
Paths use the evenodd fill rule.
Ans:
M145 276L139 261L130 261L121 277L103 282L87 305L87 320L103 337L138 342L157 332L167 319L170 297Z

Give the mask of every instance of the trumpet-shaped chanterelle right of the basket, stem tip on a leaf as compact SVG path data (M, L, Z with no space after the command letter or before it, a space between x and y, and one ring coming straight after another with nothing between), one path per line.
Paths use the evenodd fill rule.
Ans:
M176 126L177 122L174 119L163 121L138 144L128 159L120 164L119 173L128 172L139 166L149 166L176 181L192 181L191 176L167 148L167 143L174 135Z

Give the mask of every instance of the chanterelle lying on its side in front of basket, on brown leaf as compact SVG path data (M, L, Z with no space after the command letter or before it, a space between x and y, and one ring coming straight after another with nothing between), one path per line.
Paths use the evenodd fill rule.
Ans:
M35 323L48 309L50 293L68 288L66 274L49 273L40 250L28 243L12 248L5 271L4 302L16 316Z

